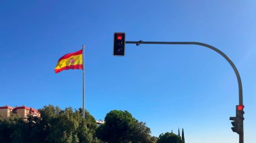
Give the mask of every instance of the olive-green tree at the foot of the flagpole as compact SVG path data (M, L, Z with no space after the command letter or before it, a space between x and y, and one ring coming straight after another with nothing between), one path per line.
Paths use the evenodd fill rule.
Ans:
M88 111L86 118L82 117L82 109L73 111L71 107L61 110L49 105L39 111L42 142L95 142L96 121Z

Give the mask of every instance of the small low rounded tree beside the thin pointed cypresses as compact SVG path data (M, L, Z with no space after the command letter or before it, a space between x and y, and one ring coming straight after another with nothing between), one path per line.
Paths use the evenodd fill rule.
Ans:
M181 136L166 132L165 134L160 134L158 138L158 143L184 143L181 140Z

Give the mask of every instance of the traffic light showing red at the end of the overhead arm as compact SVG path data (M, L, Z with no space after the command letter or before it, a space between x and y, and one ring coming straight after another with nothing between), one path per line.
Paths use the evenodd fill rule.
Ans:
M114 33L114 55L125 55L125 33Z

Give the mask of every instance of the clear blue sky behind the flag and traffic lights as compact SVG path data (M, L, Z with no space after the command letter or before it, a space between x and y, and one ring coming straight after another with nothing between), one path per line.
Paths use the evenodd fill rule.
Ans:
M255 143L256 2L0 0L0 105L82 107L82 70L55 74L57 60L85 44L86 109L113 109L146 122L152 134L185 129L189 143L238 142L229 121L238 104L231 66L201 46L126 45L127 40L195 41L216 46L243 82L245 142Z

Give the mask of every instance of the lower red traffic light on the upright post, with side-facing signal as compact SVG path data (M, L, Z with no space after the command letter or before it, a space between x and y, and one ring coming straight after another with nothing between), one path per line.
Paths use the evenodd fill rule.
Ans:
M244 105L236 105L236 117L230 117L229 119L233 121L231 122L233 126L231 128L232 131L237 134L243 134L243 120L245 120L245 117L243 117L243 114L245 113L245 111L243 111L244 107Z

